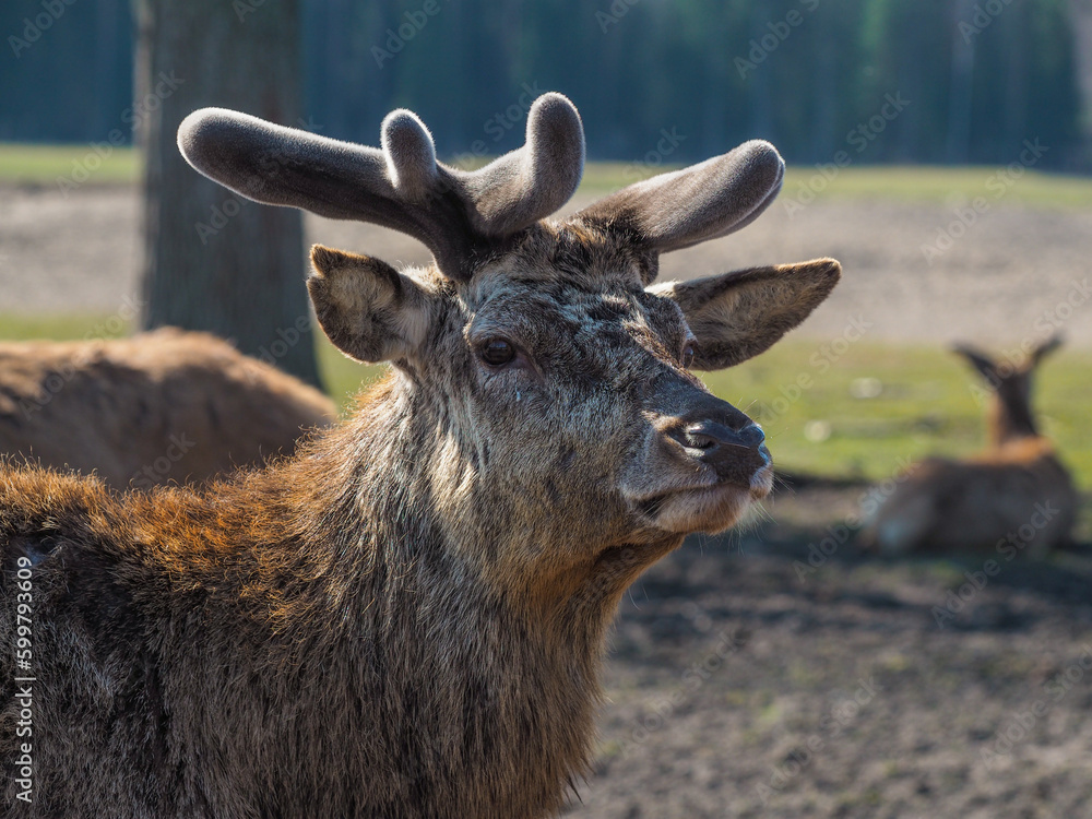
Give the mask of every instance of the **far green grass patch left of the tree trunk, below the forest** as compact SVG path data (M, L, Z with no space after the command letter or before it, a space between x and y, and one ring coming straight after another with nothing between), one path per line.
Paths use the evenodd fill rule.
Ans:
M23 145L0 143L0 183L56 185L58 178L79 182L82 168L92 183L134 183L140 154L131 147L99 143L100 151L82 145ZM105 154L105 158L99 154ZM75 176L73 176L75 174Z

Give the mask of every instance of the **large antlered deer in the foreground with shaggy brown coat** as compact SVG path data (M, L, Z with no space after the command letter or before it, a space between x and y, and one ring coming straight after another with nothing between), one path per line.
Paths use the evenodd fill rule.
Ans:
M378 149L225 109L178 141L241 195L402 230L432 263L312 249L323 332L388 371L292 459L123 495L0 472L5 798L33 785L40 816L557 815L592 759L625 589L770 491L761 428L693 370L767 349L839 263L654 280L661 253L756 218L781 156L746 142L561 218L584 136L556 93L476 170L438 162L403 109ZM19 572L29 783L11 762Z

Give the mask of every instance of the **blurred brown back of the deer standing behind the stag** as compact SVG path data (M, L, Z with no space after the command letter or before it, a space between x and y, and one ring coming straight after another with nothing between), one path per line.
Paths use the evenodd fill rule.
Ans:
M0 342L0 453L116 489L204 483L289 455L337 411L209 333Z

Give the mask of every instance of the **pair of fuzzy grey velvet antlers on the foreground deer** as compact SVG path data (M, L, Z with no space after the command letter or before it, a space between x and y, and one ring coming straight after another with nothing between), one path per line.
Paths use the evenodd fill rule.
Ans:
M565 204L584 163L580 115L544 94L527 115L526 144L473 171L436 161L424 123L400 109L383 120L381 149L204 108L178 129L198 170L248 199L331 218L371 222L420 239L450 278L468 281L488 247ZM574 218L617 230L646 251L645 283L660 253L749 224L781 190L785 165L768 142L637 182Z

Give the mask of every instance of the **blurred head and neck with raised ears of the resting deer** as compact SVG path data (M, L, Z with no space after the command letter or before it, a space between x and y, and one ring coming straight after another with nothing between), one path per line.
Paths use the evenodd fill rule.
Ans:
M1055 334L1042 342L1019 361L998 361L969 344L956 344L952 352L965 358L994 391L990 407L990 443L1001 446L1020 438L1038 435L1031 411L1032 375L1043 358L1061 346L1063 337Z

